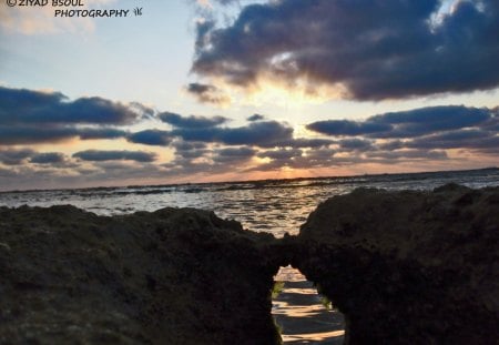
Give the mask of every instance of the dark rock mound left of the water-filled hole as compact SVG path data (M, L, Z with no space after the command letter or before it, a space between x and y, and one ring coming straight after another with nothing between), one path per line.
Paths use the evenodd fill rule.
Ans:
M0 207L0 344L277 344L274 241L196 210Z

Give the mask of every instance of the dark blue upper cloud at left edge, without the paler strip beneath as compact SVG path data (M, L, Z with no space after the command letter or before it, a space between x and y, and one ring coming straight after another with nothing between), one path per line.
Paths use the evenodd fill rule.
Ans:
M136 103L128 106L98 97L69 101L59 92L0 87L0 125L130 124L146 112Z

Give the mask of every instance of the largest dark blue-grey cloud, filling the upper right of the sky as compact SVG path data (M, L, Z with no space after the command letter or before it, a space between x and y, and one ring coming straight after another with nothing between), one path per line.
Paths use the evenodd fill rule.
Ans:
M499 2L286 0L248 4L225 28L197 27L192 70L243 87L271 74L342 84L358 100L499 85Z

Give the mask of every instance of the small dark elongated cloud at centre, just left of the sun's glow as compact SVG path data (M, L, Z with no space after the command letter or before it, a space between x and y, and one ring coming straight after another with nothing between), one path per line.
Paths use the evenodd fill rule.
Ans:
M276 121L253 122L240 128L177 129L172 133L185 141L217 142L227 145L268 146L279 141L293 140L293 129Z

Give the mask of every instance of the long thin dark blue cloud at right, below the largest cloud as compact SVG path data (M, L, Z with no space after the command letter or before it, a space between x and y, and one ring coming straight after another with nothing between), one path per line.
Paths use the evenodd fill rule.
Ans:
M375 115L365 121L327 120L307 129L327 135L369 138L415 138L442 131L488 125L492 110L462 105L428 106Z

